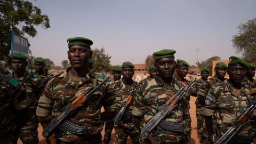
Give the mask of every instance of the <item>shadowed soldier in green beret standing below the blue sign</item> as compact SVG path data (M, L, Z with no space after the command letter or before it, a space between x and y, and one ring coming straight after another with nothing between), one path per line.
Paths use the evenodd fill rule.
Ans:
M26 71L26 66L28 62L26 61L28 57L21 53L12 53L12 69L13 73L9 76L16 79L17 81L22 81L22 79L28 77ZM23 143L38 143L38 121L36 116L36 106L40 95L43 92L44 84L41 79L37 78L37 75L31 76L22 86L25 87L29 101L30 101L30 112L31 119L29 122L21 129L19 133L19 138Z

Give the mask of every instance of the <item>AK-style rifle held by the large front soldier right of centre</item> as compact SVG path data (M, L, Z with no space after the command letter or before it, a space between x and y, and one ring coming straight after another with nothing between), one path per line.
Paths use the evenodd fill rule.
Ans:
M178 101L183 97L185 93L189 91L190 87L196 82L196 78L193 78L190 75L189 78L191 79L191 83L186 87L181 87L181 89L175 95L173 95L172 98L166 101L165 104L161 106L158 113L153 118L151 118L150 121L141 130L142 137L145 139L149 139L150 143L156 143L153 131L155 129L159 130L160 127L170 131L183 131L182 124L168 123L164 121L164 119L166 118L166 116L169 116L171 114L171 111L174 108L178 106Z

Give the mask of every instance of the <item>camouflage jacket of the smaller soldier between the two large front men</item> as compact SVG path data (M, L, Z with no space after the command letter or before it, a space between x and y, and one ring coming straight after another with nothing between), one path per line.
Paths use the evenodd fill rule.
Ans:
M119 79L115 82L113 88L114 88L114 94L116 96L116 104L117 104L117 113L122 108L124 101L126 98L130 95L133 89L137 86L137 82L133 81L133 83L130 85L129 89L127 90L125 88L124 83L122 82L122 79ZM129 109L127 111L132 111L134 106L134 103L132 102Z

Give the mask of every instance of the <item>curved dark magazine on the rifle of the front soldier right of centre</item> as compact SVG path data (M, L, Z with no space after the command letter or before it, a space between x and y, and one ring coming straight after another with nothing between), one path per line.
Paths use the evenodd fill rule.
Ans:
M174 123L169 123L163 120L160 124L160 127L167 131L173 131L173 132L179 132L179 131L184 131L184 127L182 123L174 124Z

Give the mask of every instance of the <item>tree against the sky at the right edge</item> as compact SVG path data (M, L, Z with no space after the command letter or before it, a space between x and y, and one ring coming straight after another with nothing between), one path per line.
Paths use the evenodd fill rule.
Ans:
M242 52L245 62L256 64L256 18L240 23L237 27L239 33L233 36L233 47L236 53Z

